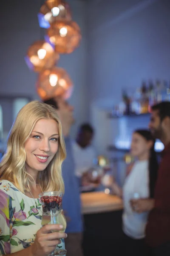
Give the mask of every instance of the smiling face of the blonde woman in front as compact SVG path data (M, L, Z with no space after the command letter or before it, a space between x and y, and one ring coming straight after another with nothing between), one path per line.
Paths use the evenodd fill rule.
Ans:
M40 119L26 140L26 169L28 173L43 171L58 150L59 129L54 119Z

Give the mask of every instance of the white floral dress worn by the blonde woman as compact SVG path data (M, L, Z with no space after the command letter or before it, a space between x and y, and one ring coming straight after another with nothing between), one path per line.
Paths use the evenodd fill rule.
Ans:
M41 228L42 205L8 180L0 180L0 255L30 246Z

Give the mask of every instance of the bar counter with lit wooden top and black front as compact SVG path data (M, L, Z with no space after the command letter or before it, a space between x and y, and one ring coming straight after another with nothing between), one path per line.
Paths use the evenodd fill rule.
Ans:
M122 199L105 192L85 192L81 199L84 256L116 255L122 246Z

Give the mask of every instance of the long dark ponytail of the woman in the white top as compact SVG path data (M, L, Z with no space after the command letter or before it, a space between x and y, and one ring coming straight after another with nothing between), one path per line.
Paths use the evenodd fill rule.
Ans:
M153 138L151 132L149 130L136 130L134 133L140 134L147 141L152 140L153 146L150 148L150 157L149 157L149 190L150 190L150 198L154 197L155 184L157 180L158 174L158 160L156 157L156 152L154 150L155 139Z

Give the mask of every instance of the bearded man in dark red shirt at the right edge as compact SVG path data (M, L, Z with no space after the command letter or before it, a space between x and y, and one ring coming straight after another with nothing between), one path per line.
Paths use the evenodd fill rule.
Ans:
M154 256L170 255L170 102L151 108L149 123L153 136L164 144L154 198L135 201L140 212L151 210L146 227L146 241Z

